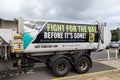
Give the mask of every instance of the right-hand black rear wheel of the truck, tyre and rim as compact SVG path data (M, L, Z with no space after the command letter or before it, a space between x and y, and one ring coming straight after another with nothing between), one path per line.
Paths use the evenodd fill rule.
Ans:
M90 68L90 60L85 57L79 57L77 61L75 61L75 70L77 73L86 73Z

